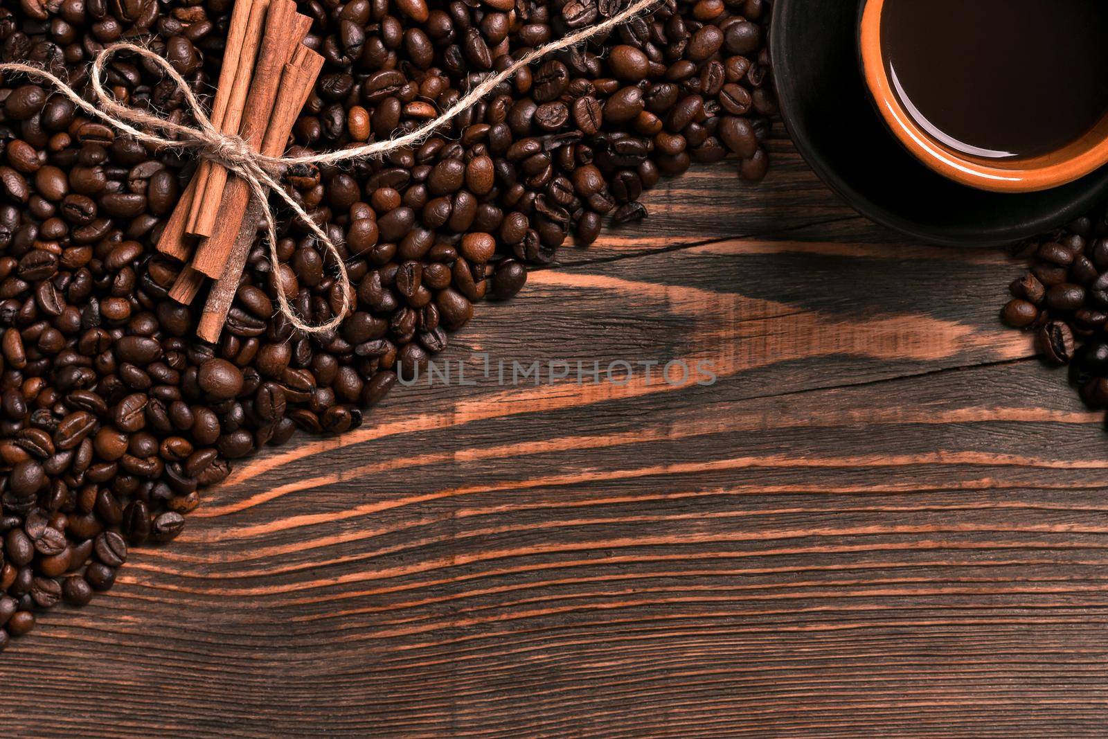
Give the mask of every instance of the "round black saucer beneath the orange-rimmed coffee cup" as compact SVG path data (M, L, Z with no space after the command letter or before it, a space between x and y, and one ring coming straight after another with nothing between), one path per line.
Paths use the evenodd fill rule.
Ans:
M812 170L861 214L933 244L992 246L1057 228L1108 196L1108 167L1038 193L960 185L913 157L862 81L852 0L776 0L770 54L781 116Z

